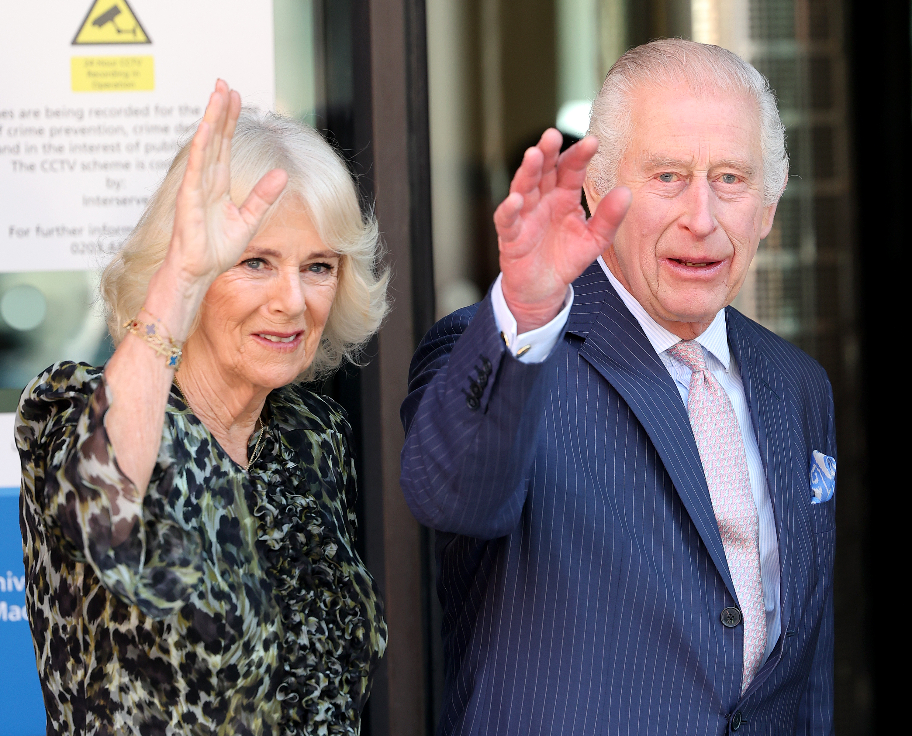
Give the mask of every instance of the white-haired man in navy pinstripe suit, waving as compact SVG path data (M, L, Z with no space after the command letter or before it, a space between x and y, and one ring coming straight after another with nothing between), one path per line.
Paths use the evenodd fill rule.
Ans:
M526 151L501 276L412 363L439 733L832 733L832 392L728 306L787 179L775 99L728 51L658 41L590 131Z

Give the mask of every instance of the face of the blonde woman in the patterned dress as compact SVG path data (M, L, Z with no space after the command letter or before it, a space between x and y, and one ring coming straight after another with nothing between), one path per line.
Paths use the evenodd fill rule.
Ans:
M209 287L191 354L240 381L278 388L314 360L336 297L339 256L290 199ZM204 353L203 353L204 351Z

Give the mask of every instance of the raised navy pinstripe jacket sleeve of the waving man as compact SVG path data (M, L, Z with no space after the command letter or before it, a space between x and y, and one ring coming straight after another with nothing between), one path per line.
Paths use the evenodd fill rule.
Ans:
M441 320L421 341L402 404L402 490L425 526L482 539L519 523L554 354L516 360L491 296Z

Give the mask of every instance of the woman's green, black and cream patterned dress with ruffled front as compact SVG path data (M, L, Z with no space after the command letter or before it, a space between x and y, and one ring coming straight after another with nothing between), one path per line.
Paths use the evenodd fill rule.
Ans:
M343 411L296 385L269 394L248 473L172 387L137 503L111 401L101 368L57 363L19 404L47 733L357 734L387 629L353 547Z

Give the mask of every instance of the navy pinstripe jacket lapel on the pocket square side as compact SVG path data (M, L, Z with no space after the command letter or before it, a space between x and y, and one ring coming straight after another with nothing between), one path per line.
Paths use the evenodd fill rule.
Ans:
M763 353L762 338L751 322L731 307L726 310L726 318L731 353L738 363L744 394L751 410L751 423L760 448L779 537L784 638L794 619L794 587L801 577L800 569L795 567L795 545L798 539L809 534L809 530L804 528L807 526L804 509L798 506L807 503L807 494L802 494L802 488L807 485L807 470L802 448L796 442L799 436L797 418L790 409L795 405L793 389ZM772 659L767 665L772 663Z

